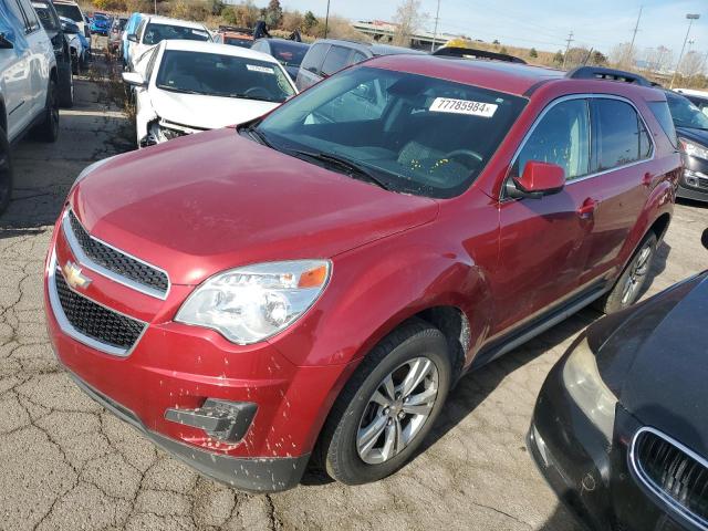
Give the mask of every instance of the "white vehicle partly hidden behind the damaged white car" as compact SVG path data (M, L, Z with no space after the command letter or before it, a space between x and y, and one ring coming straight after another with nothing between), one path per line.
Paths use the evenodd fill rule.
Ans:
M135 33L129 33L128 70L135 70L140 56L166 40L211 41L211 33L204 24L158 15L143 15Z

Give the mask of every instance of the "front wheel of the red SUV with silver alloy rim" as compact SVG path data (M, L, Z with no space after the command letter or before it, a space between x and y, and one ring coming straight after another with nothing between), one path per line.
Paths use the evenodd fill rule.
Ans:
M407 389L416 376L423 379ZM354 372L324 424L315 454L327 475L361 485L394 473L433 428L450 383L448 345L438 329L410 320L392 332Z

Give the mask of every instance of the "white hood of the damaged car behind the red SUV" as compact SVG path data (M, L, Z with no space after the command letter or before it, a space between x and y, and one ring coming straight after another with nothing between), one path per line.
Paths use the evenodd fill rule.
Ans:
M157 116L200 129L216 129L257 118L280 105L238 97L204 96L153 88L150 103Z

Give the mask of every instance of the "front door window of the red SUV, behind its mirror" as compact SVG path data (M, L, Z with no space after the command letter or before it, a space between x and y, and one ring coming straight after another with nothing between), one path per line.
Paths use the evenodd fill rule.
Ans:
M590 112L585 100L561 102L541 118L519 153L512 175L529 160L558 164L572 180L590 173Z

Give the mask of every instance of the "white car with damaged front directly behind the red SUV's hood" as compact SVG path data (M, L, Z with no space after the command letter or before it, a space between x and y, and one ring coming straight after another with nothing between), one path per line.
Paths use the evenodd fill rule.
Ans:
M296 94L271 55L214 42L163 41L123 80L135 88L139 147L248 122Z

